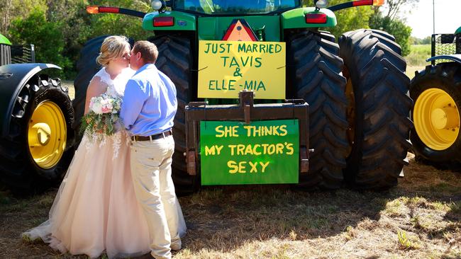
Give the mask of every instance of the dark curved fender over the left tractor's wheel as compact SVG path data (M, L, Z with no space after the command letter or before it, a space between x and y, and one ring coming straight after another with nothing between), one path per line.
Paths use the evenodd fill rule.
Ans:
M8 137L11 116L18 94L28 81L44 69L61 69L54 64L7 64L0 67L0 137ZM27 102L28 100L23 100Z

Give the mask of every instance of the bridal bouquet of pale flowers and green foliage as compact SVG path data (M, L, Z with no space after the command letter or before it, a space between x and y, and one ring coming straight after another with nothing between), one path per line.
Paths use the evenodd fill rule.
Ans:
M120 108L122 99L103 93L101 96L91 98L89 113L82 117L80 132L88 134L89 139L101 139L111 136L120 128Z

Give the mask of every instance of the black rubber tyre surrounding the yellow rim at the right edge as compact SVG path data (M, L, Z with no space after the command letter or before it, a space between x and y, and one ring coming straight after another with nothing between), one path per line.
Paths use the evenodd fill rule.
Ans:
M445 91L455 100L456 107L461 107L461 64L455 62L440 63L435 66L429 65L426 69L416 72L410 87L410 96L415 100L415 103L421 93L428 88L439 88ZM411 114L413 115L413 111ZM414 128L411 130L410 137L418 161L431 163L439 168L459 170L461 134L458 134L455 143L444 150L431 149L424 144Z

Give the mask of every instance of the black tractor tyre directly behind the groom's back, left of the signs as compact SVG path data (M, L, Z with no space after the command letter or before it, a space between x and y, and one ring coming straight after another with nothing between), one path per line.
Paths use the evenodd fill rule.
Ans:
M157 45L159 56L155 65L173 81L177 90L178 108L174 117L174 154L172 178L178 194L188 194L198 190L200 179L187 173L186 116L185 106L192 100L193 89L191 67L194 60L191 39L181 35L159 35L148 39Z

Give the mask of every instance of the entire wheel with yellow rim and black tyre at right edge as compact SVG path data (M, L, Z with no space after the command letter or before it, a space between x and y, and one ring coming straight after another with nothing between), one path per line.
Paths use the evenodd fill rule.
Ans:
M416 157L442 168L461 163L461 64L429 65L411 80L411 143Z

